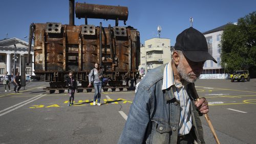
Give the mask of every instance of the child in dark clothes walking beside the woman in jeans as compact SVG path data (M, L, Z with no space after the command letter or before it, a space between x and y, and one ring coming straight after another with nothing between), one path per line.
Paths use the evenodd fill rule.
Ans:
M69 86L69 104L68 106L74 105L75 91L77 89L77 82L73 75L73 72L69 73L66 85Z

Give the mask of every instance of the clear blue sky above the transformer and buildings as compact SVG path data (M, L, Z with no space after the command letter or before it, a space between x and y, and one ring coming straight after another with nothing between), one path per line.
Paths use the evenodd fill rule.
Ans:
M128 7L126 26L140 32L140 42L158 37L157 27L161 26L161 38L170 39L175 45L176 37L190 27L206 32L228 22L237 22L245 15L256 11L254 0L75 0L75 3ZM8 0L0 5L0 39L17 37L28 41L30 23L60 22L69 24L69 0ZM115 25L115 20L88 19L88 25L103 27ZM75 25L84 25L84 19L75 17ZM119 26L124 26L119 21ZM7 36L8 33L8 36Z

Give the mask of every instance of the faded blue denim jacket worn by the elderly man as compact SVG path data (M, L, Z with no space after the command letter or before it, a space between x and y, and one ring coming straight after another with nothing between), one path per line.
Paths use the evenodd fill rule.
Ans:
M180 104L172 87L161 90L164 67L165 64L152 69L140 82L118 143L177 143ZM196 141L205 143L195 98L190 91L187 93L193 101L191 114Z

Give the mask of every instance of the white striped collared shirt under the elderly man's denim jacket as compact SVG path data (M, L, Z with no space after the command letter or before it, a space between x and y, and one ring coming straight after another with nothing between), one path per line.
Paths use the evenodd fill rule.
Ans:
M180 123L179 123L179 135L188 134L192 127L192 118L191 118L191 100L187 94L187 84L188 82L184 81L184 83L177 83L174 79L174 73L172 68L172 62L169 62L164 67L163 72L163 84L162 90L167 89L173 86L173 92L175 98L180 101Z

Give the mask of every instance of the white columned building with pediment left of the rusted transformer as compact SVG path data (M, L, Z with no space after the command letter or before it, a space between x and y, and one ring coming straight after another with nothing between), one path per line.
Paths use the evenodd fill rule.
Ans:
M15 46L16 45L16 52ZM0 40L0 76L3 76L7 71L8 75L13 74L14 64L16 64L16 72L20 72L20 56L25 56L25 59L28 57L28 42L13 38L5 38ZM16 61L14 63L14 53L16 53ZM26 75L34 76L34 49L33 45L31 47L30 59L32 62L25 67ZM27 60L26 60L27 62Z

